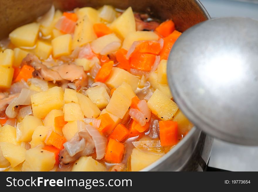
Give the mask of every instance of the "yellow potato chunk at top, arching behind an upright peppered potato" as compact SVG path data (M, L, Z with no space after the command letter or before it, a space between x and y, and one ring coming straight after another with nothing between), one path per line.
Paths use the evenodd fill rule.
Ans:
M96 9L93 9L92 7L80 8L75 13L77 14L79 19L84 18L85 15L88 16L89 21L92 24L100 22L99 12Z

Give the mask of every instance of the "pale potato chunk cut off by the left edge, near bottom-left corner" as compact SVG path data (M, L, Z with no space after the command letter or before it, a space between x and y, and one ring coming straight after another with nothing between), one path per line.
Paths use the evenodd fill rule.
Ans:
M17 166L25 159L26 149L19 145L14 145L13 143L8 142L0 142L0 148L4 158L10 162L11 167Z

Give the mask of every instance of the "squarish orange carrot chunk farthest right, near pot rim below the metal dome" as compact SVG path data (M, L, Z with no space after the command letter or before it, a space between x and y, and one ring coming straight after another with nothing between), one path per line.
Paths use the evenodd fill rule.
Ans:
M162 146L176 145L178 142L178 124L176 121L159 121L159 137Z

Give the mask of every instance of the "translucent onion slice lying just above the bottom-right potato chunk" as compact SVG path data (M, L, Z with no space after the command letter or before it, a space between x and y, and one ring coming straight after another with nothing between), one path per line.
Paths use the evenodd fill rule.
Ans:
M133 145L136 149L149 154L164 155L164 147L160 145L160 140L149 141L133 141Z

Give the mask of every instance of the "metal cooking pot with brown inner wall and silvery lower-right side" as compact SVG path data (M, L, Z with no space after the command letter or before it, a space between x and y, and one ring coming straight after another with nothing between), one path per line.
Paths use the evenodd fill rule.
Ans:
M184 32L191 26L210 19L198 0L1 0L0 39L18 26L35 21L54 3L57 9L70 11L76 7L101 7L105 4L119 9L148 13L161 20L173 19L176 29ZM166 155L143 171L204 171L211 154L213 138L196 127Z

